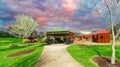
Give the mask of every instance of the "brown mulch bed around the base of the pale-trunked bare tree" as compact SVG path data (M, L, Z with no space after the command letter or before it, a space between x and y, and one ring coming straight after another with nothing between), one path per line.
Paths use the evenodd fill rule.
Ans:
M102 56L97 56L92 59L99 67L120 67L120 60L116 60L116 64L113 66L111 64L110 58L105 58Z

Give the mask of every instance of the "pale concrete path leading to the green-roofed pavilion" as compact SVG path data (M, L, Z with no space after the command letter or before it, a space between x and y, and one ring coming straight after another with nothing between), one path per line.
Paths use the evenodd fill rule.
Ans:
M66 47L65 44L45 46L35 67L82 67L70 56Z

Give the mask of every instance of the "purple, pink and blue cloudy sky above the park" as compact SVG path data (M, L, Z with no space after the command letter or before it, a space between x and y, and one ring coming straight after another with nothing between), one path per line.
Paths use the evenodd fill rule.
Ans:
M97 8L104 18L99 17ZM108 27L104 13L100 0L0 0L0 29L5 30L15 22L16 15L26 14L37 21L40 31L54 28L91 31Z

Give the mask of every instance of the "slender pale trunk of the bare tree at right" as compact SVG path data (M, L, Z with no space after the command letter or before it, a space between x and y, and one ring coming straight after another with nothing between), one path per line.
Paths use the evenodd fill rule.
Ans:
M113 28L113 23L111 23L111 28L112 28L112 58L111 58L111 64L115 65L115 34L114 34L114 28Z

